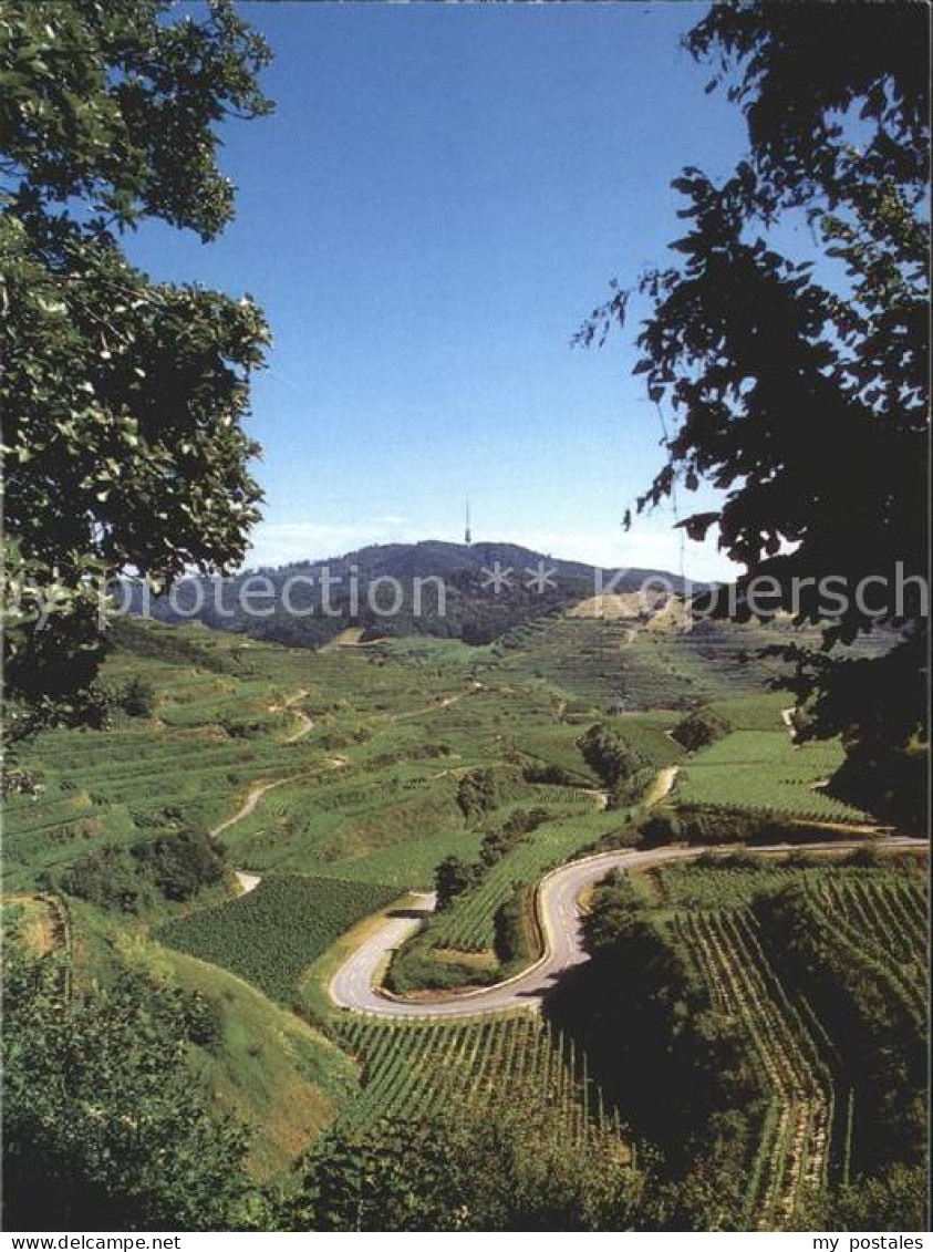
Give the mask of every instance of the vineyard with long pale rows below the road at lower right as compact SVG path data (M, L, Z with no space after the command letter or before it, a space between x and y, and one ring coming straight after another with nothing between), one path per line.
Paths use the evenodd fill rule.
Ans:
M768 918L785 891L803 890L809 911L795 918L796 925L810 928L813 947L807 950L839 948L859 978L875 980L878 990L867 1002L873 1012L878 1003L893 1005L895 1014L903 1005L922 1047L925 888L920 863L909 858L893 868L799 866L786 859L733 866L730 860L665 866L622 880L616 890L630 908L661 910L690 953L714 1010L748 1039L763 1113L746 1167L741 1228L781 1229L829 1181L850 1177L854 1156L870 1158L877 1132L870 1101L867 1108L857 1085L862 1062L850 1053L849 1030L858 1019L847 1018L849 1025L840 1027L842 1019L810 994L802 967L785 952L788 921L765 931L759 918Z

